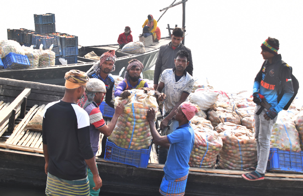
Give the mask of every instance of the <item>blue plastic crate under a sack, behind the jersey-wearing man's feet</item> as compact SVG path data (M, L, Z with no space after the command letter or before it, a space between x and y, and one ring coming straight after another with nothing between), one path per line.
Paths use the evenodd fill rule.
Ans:
M278 148L270 148L267 170L286 173L303 173L303 151L291 152Z

